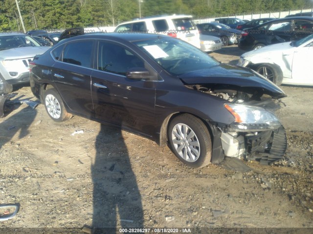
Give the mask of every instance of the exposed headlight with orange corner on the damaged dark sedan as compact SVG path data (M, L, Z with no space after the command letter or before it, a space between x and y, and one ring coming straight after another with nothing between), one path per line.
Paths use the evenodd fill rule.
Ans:
M272 112L261 107L241 104L225 104L224 107L235 117L235 121L230 124L235 131L267 131L281 126Z

